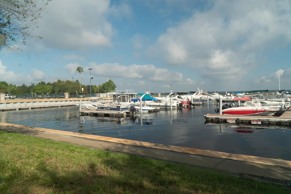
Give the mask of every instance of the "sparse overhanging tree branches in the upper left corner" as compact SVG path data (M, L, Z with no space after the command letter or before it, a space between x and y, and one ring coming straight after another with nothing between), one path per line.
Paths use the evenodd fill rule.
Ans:
M32 35L38 28L38 20L45 6L51 0L0 0L0 50L7 47L13 50L13 44L26 44L26 38L36 40L41 36Z

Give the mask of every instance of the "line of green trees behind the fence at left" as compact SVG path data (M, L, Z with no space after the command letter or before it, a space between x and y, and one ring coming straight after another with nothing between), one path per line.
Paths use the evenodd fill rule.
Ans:
M82 92L82 89L84 91ZM107 82L102 85L91 85L91 93L106 93L111 90L115 90L116 86L114 82L109 79ZM68 92L69 94L77 94L77 93L90 93L90 85L85 86L84 84L80 84L78 80L70 81L70 80L60 80L50 83L45 83L41 81L37 84L32 83L27 86L24 83L20 86L16 86L15 84L8 84L6 81L0 81L0 93L11 94L11 95L22 95L22 94L31 94L31 90L36 94L59 94L61 92Z

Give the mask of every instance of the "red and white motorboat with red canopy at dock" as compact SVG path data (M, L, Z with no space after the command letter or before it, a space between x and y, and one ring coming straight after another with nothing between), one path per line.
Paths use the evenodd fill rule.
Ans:
M250 100L250 97L243 98L235 98L233 100ZM230 104L225 104L222 106L222 114L223 115L272 115L275 112L279 111L280 107L265 107L260 104L260 102L256 103L248 103L248 106L238 106L237 103L232 102ZM215 112L219 112L219 109L216 109Z

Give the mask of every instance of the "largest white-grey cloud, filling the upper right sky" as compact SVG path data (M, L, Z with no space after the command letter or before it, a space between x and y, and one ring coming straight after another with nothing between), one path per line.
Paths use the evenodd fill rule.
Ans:
M213 1L167 29L147 54L212 81L239 81L261 51L291 41L291 1Z

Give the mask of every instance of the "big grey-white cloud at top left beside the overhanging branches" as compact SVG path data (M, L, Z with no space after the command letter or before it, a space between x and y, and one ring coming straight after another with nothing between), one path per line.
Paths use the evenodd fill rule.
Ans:
M74 50L111 46L115 32L108 16L130 17L131 8L107 0L62 0L49 2L47 12L33 33L42 36L45 46Z

